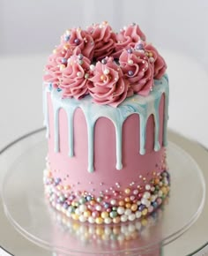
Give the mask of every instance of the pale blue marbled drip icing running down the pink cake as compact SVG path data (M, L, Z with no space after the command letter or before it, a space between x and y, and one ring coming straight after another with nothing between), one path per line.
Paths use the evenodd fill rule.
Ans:
M154 150L160 150L159 133L160 133L160 118L159 106L161 95L165 94L165 111L164 111L164 129L163 129L163 146L167 146L167 119L168 119L168 79L164 75L160 80L154 80L155 86L152 92L144 97L138 94L127 98L122 102L119 107L113 108L108 105L99 105L92 103L92 97L86 95L81 101L74 98L63 99L62 92L56 89L51 90L51 100L54 111L54 141L55 152L59 152L59 110L64 109L68 119L68 134L69 134L69 156L74 155L74 131L73 131L73 117L76 109L82 109L85 115L88 137L88 171L93 172L93 154L94 154L94 125L98 118L107 117L115 126L115 148L116 148L116 169L123 169L122 163L122 133L123 122L132 114L139 115L140 118L140 147L139 154L145 154L145 141L146 141L146 124L148 118L153 115L154 117ZM46 87L43 96L43 109L44 109L44 124L47 127L47 134L49 136L48 125L48 101L47 101L48 87Z

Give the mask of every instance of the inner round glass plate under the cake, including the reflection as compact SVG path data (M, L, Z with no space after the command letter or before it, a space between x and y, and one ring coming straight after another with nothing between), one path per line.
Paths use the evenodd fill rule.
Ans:
M53 210L44 197L44 129L31 132L8 147L12 145L15 150L8 154L8 162L12 159L12 163L7 166L1 186L4 212L16 230L34 244L54 252L53 255L122 256L153 250L160 253L163 245L181 236L197 221L204 207L201 170L189 154L169 141L171 193L164 210L160 208L147 220L121 226L72 222Z

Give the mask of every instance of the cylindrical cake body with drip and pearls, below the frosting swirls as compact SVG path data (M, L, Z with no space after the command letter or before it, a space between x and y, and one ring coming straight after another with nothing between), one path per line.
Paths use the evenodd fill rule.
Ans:
M116 114L112 107L96 104L89 110L90 99L75 103L62 99L57 90L46 90L48 170L53 181L48 190L53 191L50 200L55 207L64 208L68 215L71 211L73 218L83 221L118 222L147 215L160 205L169 190L164 147L167 77L155 83L149 96L133 95L114 110ZM121 137L116 136L116 128ZM93 145L89 142L92 137ZM117 213L118 208L123 215ZM87 218L84 215L89 210ZM130 216L124 214L126 210Z

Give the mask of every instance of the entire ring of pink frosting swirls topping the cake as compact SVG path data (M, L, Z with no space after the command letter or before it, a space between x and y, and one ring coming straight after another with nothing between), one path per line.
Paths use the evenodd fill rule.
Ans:
M66 30L48 57L43 79L62 89L63 98L79 100L90 94L94 103L117 107L133 94L150 94L154 79L161 79L166 69L139 26L115 33L102 22Z

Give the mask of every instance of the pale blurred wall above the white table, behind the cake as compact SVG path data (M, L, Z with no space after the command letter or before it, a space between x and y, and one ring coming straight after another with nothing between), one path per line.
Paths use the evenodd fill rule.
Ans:
M48 51L63 31L137 22L150 41L208 64L207 0L0 0L0 53Z

